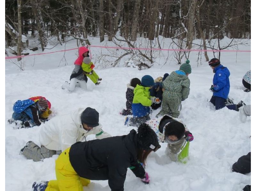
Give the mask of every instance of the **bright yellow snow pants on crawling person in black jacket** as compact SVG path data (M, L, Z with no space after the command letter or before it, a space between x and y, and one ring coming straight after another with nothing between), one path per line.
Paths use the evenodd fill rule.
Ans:
M45 191L83 191L90 180L78 176L69 162L69 150L66 149L55 161L57 180L50 180Z

